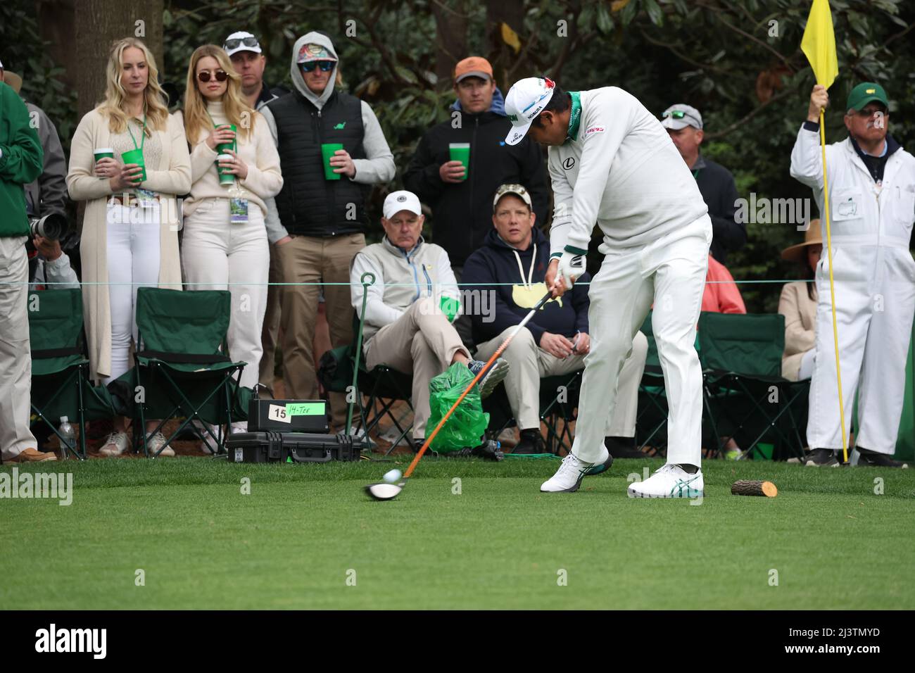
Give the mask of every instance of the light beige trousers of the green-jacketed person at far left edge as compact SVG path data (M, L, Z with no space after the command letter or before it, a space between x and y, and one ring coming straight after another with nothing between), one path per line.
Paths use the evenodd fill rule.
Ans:
M32 356L26 240L26 236L0 236L0 453L4 460L38 445L28 429Z

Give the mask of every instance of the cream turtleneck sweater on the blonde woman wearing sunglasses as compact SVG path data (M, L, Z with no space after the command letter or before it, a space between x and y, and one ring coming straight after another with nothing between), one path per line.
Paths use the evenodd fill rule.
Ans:
M216 125L230 124L222 109L222 103L207 103L207 112ZM248 177L239 180L242 196L249 201L249 209L256 205L262 214L267 212L266 199L275 196L283 187L283 174L280 172L280 157L274 146L270 127L260 113L254 113L253 133L247 139L241 134L235 136L236 153L248 166ZM207 145L209 131L190 153L190 196L184 201L184 214L193 213L204 199L230 199L231 185L220 184L216 170L216 157L219 154ZM250 213L249 213L250 214Z

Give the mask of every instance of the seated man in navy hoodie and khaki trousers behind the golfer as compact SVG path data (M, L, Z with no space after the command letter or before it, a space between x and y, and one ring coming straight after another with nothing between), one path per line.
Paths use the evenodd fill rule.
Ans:
M531 195L522 185L502 185L493 201L494 229L483 247L468 257L462 282L468 290L491 291L491 310L474 311L473 339L477 357L495 353L502 340L533 309L547 288L550 244L534 227ZM551 299L505 349L509 363L505 390L511 413L521 431L515 453L540 453L540 379L583 369L590 350L587 281L585 274L565 296ZM491 289L490 287L491 286ZM484 302L477 302L483 306ZM614 458L644 457L635 450L635 420L639 382L648 341L641 332L619 375L619 396L607 419L604 440Z

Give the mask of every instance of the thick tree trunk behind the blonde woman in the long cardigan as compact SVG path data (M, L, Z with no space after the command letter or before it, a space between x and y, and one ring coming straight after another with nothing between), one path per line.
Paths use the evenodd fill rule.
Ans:
M102 101L108 49L116 39L140 38L162 62L163 0L80 0L76 15L76 91L80 117Z

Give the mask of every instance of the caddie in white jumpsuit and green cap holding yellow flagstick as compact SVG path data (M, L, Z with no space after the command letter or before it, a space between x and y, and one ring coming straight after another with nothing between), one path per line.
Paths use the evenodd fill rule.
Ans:
M791 150L791 176L813 188L821 213L819 120L828 102L823 86L813 87L807 121ZM888 118L883 87L858 84L845 103L848 137L826 146L826 170L845 433L857 390L858 464L906 467L892 455L915 313L915 261L909 252L915 221L915 157L888 135ZM839 464L835 453L842 448L842 425L826 251L816 267L816 288L816 354L807 423L812 452L807 464L834 466Z

